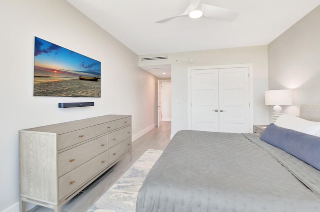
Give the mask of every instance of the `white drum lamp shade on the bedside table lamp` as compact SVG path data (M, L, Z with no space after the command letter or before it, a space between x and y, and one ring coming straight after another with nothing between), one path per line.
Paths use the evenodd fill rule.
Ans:
M264 91L265 105L292 105L292 90Z

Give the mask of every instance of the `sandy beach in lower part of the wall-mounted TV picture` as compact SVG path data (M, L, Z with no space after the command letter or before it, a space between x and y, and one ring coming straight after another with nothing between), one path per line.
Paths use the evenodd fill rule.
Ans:
M79 79L34 83L33 96L100 97L100 79Z

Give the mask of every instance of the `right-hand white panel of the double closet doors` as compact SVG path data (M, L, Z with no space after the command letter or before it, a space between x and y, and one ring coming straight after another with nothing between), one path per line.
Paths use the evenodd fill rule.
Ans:
M249 69L219 69L219 132L249 132Z

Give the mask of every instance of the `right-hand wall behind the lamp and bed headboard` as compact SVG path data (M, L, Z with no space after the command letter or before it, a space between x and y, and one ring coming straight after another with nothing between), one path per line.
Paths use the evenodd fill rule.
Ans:
M299 115L301 103L320 102L319 23L317 6L268 45L269 89L293 89L293 106L283 113Z

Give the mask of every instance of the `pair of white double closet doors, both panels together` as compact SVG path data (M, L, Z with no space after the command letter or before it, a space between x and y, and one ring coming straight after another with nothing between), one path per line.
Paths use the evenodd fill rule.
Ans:
M191 130L250 132L248 71L191 70Z

